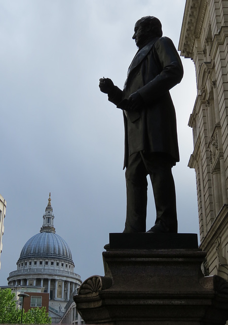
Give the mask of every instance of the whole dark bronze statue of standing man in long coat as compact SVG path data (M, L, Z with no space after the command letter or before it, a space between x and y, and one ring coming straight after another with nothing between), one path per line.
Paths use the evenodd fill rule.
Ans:
M124 89L109 78L100 90L123 110L127 216L124 233L146 231L147 179L155 198L156 221L149 233L177 233L176 194L172 167L179 161L176 115L169 90L183 77L173 42L162 37L153 16L139 19L133 39L138 51L128 69Z

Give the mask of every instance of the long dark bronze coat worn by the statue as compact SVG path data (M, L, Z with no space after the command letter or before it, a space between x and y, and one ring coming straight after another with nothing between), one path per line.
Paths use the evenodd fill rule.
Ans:
M124 100L138 91L144 102L139 112L124 111L124 167L128 156L141 150L165 153L173 165L179 161L176 114L169 90L182 77L182 63L169 38L154 38L136 53L124 89L116 86L115 95L108 98L124 109Z

